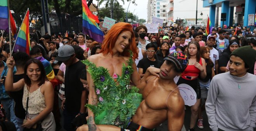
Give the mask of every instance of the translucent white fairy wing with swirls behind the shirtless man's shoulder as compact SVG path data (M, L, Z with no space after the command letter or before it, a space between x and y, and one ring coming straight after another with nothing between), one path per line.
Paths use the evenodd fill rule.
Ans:
M193 106L196 102L196 93L194 89L187 84L179 84L180 95L182 96L185 105Z

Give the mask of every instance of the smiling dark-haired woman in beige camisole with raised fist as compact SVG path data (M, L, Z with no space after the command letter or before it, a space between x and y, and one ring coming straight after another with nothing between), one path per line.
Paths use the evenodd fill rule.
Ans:
M24 79L13 83L13 69L15 62L8 58L6 62L9 70L5 78L5 88L8 91L23 89L22 104L26 110L26 122L24 128L42 126L43 131L55 131L56 125L52 114L54 104L54 88L47 81L43 64L38 59L30 59L26 62Z

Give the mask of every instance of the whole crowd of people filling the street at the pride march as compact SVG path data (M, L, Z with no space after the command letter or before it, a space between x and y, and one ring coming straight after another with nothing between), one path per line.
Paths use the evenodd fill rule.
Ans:
M213 131L253 131L256 29L205 31L170 26L152 34L119 22L99 43L34 30L30 53L12 57L14 41L0 37L3 120L17 131L152 131L168 120L170 131L180 131L185 105L177 85L188 84L197 94L189 131L204 128L203 111Z

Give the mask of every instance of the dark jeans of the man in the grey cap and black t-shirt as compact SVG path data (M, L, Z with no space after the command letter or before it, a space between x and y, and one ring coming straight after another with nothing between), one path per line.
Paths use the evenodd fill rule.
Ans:
M78 115L79 112L69 112L65 108L63 111L63 117L64 117L64 129L67 131L75 131L75 128L72 126L72 121Z

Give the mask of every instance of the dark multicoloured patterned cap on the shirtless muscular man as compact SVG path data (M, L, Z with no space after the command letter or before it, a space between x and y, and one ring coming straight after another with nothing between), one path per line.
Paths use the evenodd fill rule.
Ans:
M171 54L165 57L164 60L172 62L177 72L183 72L186 69L187 64L189 63L187 55L181 51L171 52Z

